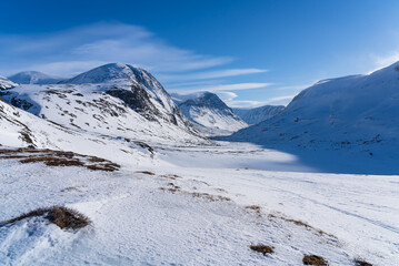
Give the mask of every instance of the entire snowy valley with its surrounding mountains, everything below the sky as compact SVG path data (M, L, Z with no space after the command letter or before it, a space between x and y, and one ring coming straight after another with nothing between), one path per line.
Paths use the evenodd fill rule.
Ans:
M0 263L397 265L396 69L242 117L121 63L53 84L1 78ZM90 223L60 228L40 211L52 206Z

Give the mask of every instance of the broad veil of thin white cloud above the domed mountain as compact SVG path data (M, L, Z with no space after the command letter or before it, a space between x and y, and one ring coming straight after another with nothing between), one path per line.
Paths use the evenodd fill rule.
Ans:
M0 35L0 58L2 74L37 69L63 75L86 71L102 62L178 72L213 68L233 60L180 49L144 28L121 23L97 23L51 34Z

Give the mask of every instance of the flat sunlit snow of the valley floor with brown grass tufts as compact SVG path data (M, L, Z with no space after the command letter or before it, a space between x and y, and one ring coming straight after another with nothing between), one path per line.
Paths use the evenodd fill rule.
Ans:
M156 147L117 172L0 158L0 219L64 205L92 225L40 217L0 227L1 265L399 265L399 176L317 173L250 144ZM146 164L150 165L150 164ZM272 246L263 256L251 244Z

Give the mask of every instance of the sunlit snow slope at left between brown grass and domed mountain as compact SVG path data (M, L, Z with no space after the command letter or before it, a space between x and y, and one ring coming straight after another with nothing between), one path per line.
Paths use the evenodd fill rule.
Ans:
M134 157L134 165L162 164L154 160L154 152L140 142L78 132L40 119L0 99L0 147L8 146L71 151L120 164L126 164L131 157Z

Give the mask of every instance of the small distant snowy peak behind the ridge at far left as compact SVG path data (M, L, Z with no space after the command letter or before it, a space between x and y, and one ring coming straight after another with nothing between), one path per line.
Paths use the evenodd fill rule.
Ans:
M22 71L8 78L19 84L56 84L64 79L39 71Z

